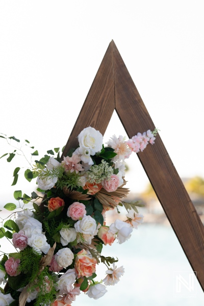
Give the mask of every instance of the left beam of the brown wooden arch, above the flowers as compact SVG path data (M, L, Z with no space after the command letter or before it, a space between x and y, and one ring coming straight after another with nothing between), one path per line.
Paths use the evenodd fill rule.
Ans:
M94 127L104 135L114 109L113 45L110 43L69 136L61 159L66 156L70 148L78 146L77 137L85 127Z

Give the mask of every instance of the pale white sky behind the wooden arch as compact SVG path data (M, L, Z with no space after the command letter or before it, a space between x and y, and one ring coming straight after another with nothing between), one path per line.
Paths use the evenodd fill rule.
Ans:
M40 157L62 147L113 39L180 176L204 177L203 33L202 1L2 1L0 132L30 140ZM105 141L125 135L118 122L114 115ZM138 158L127 164L131 190L142 191ZM23 165L0 160L1 203L35 187L24 179L9 187Z

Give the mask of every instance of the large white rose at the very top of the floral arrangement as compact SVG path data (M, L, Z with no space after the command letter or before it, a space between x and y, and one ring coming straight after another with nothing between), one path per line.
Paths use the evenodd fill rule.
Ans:
M80 147L90 149L90 154L95 155L102 149L103 135L93 127L86 127L78 136Z

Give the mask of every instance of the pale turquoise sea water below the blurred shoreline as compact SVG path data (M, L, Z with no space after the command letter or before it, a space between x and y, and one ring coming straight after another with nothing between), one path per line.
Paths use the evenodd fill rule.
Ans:
M8 242L1 240L2 247L10 248ZM117 267L123 266L125 273L115 286L107 286L108 292L94 300L84 293L77 296L72 305L136 305L136 306L200 306L204 304L204 294L193 279L191 292L187 288L188 275L192 268L177 240L172 228L162 224L141 224L134 230L132 237L123 244L116 241L103 249L105 256L118 258ZM99 264L96 280L105 277L106 266ZM176 275L183 278L180 282L181 293L175 288ZM183 294L183 296L182 296Z

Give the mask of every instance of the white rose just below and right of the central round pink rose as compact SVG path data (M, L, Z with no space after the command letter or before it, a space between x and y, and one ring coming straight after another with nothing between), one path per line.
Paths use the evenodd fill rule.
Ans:
M82 220L74 224L75 230L82 234L94 235L96 230L96 221L91 216L84 215Z

